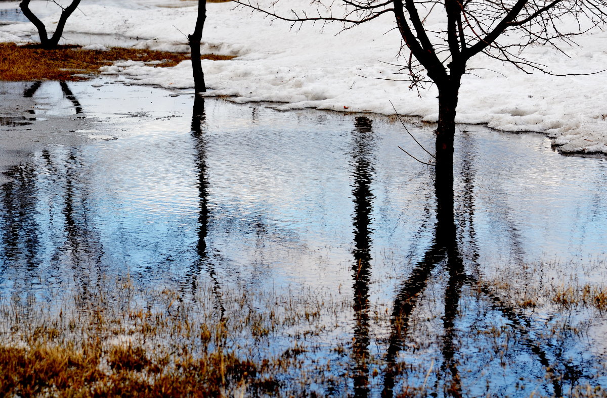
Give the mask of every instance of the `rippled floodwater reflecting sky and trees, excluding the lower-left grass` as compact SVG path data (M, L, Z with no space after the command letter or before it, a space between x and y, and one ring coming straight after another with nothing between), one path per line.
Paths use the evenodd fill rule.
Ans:
M218 99L193 107L191 95L103 81L69 90L43 83L32 101L58 105L34 113L86 116L73 133L83 139L49 142L5 171L2 296L86 294L121 273L185 290L203 280L310 286L350 306L319 337L345 347L314 354L342 380L332 392L311 386L322 395L607 386L604 313L550 296L605 286L605 159L561 156L540 134L461 126L449 234L434 171L398 145L429 156L395 119ZM408 127L432 148L432 125ZM438 253L444 240L457 259Z

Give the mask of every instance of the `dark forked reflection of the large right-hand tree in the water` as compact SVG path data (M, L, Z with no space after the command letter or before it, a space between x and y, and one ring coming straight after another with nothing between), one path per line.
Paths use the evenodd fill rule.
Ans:
M469 158L472 159L473 156L470 155ZM476 291L480 294L479 296L466 296L465 298L475 301L478 308L485 308L483 305L488 303L489 308L485 308L484 311L495 311L493 316L497 316L497 319L501 317L509 327L507 333L514 336L514 342L509 342L512 347L507 348L503 354L506 356L527 356L532 362L537 362L539 366L536 365L535 368L543 371L543 374L538 376L548 382L543 386L545 391L552 396L563 396L565 392L563 383L566 380L571 381L573 386L577 380L586 378L586 376L583 374L580 365L570 363L571 360L567 360L564 356L566 350L559 347L561 344L565 344L564 342L561 342L560 339L552 341L538 340L535 333L541 335L544 331L533 331L536 322L532 317L524 314L523 308L509 304L507 300L500 297L494 287L480 278L479 254L475 242L474 226L474 170L469 160L464 161L461 167L459 176L464 192L458 195L458 204L455 204L454 200L453 174L435 173L436 223L433 240L422 259L413 267L409 278L401 285L395 297L390 319L391 333L385 357L387 366L385 368L382 396L392 397L395 394L395 379L397 376L401 376L403 365L398 363L398 354L405 350L407 336L415 332L413 330L415 326L410 320L412 320L416 308L421 306L419 301L424 294L424 290L429 286L430 277L437 266L446 271L448 277L444 285L443 335L439 339L443 363L439 366L440 371L433 373L432 376L436 377L435 390L441 388L438 383L441 375L444 375L445 380L442 384L444 396L461 397L464 395L461 381L463 373L459 371L462 354L459 353L460 348L457 342L465 339L470 330L465 328L462 330L461 326L456 327L456 323L460 317L464 316L464 310L461 310L462 300L464 299L463 290L465 285L469 285L470 291ZM504 224L502 227L507 231L515 231L516 228L509 224L510 217L507 207L504 207L504 213L505 216L500 220L500 223ZM512 248L511 253L520 253L521 242L518 234L510 233L509 238L509 245ZM466 247L467 252L462 253L461 247ZM518 260L521 260L521 258L515 256L515 264L520 264L517 262ZM469 266L469 271L466 271L466 265ZM469 303L466 303L466 306L469 305ZM424 310L420 308L419 311ZM484 316L487 316L487 314L484 313ZM460 336L458 336L458 333ZM545 333L547 336L550 335L549 330L546 330ZM507 335L504 336L506 337L503 338L508 339ZM521 355L520 352L524 354ZM495 366L491 363L491 359L488 359L488 361L486 363L487 369ZM512 366L517 366L517 362L513 362ZM426 378L430 375L430 372L431 370L428 371ZM476 369L475 372L484 374L481 369ZM487 383L489 385L491 380L487 379ZM426 380L424 380L424 385L426 385ZM407 380L405 380L405 388L406 386ZM426 393L429 394L430 390L430 387L426 386ZM433 393L433 395L435 394L438 394L438 391Z

